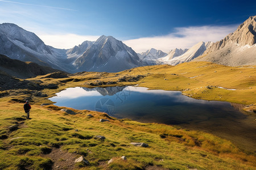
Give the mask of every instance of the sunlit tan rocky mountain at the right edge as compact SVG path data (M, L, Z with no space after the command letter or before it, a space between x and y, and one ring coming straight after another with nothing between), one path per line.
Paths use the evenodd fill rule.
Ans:
M256 65L256 16L250 16L235 32L209 46L194 61L228 66Z

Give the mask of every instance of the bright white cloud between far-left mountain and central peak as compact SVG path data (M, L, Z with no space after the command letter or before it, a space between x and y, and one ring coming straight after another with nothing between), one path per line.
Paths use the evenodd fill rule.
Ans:
M82 42L96 41L100 36L81 36L75 34L63 34L63 35L49 35L44 33L36 34L40 39L44 41L46 45L51 45L54 48L69 49L75 45L82 44Z

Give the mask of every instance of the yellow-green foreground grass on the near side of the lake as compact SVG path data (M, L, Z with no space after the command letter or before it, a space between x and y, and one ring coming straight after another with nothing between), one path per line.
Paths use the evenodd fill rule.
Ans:
M47 169L52 162L46 151L55 147L76 153L77 158L84 155L91 164L84 169L101 169L100 162L104 162L105 169L143 169L147 165L170 169L254 169L256 165L255 156L201 131L117 120L92 111L73 110L77 114L69 115L54 105L32 105L31 120L20 120L23 104L0 104L1 135L7 135L7 139L0 140L0 169ZM100 118L110 122L99 122ZM19 129L9 132L7 127L16 121ZM104 135L106 139L94 139L94 135ZM149 147L135 147L130 142L144 142ZM118 160L123 155L127 162ZM117 160L106 164L112 158Z

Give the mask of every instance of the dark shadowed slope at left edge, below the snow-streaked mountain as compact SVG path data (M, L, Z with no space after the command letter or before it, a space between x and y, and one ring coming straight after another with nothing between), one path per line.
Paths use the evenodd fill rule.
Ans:
M23 62L18 59L11 59L0 54L0 71L17 78L31 78L38 75L53 73L59 70L51 67L40 66L34 62Z

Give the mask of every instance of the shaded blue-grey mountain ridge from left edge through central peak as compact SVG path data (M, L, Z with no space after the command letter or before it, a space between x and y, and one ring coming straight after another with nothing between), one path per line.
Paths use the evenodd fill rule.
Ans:
M71 49L57 49L11 23L0 24L0 54L69 73L115 72L141 66L137 53L111 36L101 36L96 42L84 41Z

